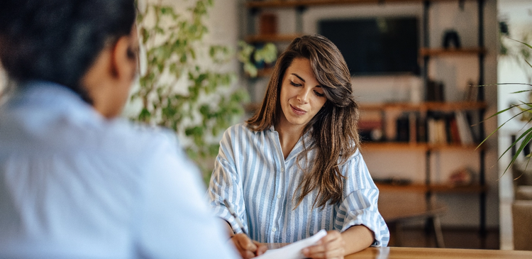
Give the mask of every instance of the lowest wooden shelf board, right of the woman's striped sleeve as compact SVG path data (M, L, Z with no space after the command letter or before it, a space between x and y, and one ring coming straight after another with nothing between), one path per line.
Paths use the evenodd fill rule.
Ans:
M438 193L482 193L487 192L487 186L470 184L465 186L453 186L450 184L384 184L375 183L381 192L438 192Z

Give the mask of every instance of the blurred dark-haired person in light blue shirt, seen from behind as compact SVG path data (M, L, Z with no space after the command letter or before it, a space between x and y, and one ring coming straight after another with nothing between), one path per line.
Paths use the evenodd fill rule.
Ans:
M234 258L174 134L118 119L133 0L3 1L0 258Z

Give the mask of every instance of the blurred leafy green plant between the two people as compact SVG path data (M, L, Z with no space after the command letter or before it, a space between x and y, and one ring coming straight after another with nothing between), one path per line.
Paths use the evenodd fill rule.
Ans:
M213 2L187 4L192 6L179 13L172 6L139 3L137 24L145 63L128 106L140 106L133 120L176 131L208 179L212 168L206 168L205 161L218 153L216 136L243 114L247 95L228 89L236 78L233 72L216 69L231 61L231 49L204 43L204 18Z

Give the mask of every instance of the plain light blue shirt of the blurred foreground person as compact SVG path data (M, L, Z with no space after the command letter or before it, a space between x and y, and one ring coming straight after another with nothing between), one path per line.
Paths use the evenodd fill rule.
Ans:
M236 258L170 132L57 84L0 106L0 258Z

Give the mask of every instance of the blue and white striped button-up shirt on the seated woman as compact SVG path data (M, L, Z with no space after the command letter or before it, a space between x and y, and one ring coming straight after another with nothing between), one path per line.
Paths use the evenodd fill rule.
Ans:
M297 156L314 141L306 133L284 159L279 134L272 126L252 131L245 123L231 126L223 134L209 184L209 198L216 216L225 219L234 230L238 226L223 199L232 204L250 238L261 243L292 243L314 235L321 229L345 231L364 225L375 233L372 246L387 246L389 231L377 209L379 189L357 151L340 172L346 176L342 202L314 208L318 192L314 190L296 206L297 189L303 171ZM314 151L307 154L314 159ZM301 168L311 166L300 158Z

